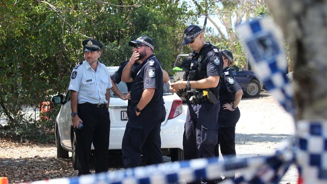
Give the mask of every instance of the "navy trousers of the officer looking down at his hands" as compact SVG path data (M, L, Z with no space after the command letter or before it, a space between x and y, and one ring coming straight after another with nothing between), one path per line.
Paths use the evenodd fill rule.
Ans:
M219 109L219 102L212 104L205 101L199 105L188 104L183 135L185 160L215 156ZM214 181L207 181L207 183L214 183Z

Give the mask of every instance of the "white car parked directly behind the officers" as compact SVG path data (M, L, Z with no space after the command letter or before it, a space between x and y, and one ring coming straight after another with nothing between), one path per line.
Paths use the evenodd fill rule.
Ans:
M113 74L118 66L107 67L110 74ZM127 86L121 81L117 84L123 94L127 94ZM76 168L75 145L76 141L71 126L71 93L68 90L66 95L56 95L51 101L61 104L60 111L56 117L55 138L57 145L57 157L68 158L68 151L72 152L72 162ZM183 132L185 124L185 113L183 113L182 100L169 90L169 83L163 86L163 101L166 107L166 119L161 123L161 151L163 155L170 156L172 161L183 160ZM121 153L122 139L125 132L127 117L127 101L118 98L111 91L109 104L110 113L110 141L109 154ZM92 145L92 150L94 149Z

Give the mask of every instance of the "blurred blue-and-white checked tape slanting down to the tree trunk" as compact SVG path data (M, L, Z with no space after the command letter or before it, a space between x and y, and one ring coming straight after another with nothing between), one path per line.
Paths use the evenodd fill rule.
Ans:
M236 27L256 74L265 87L294 115L292 87L285 75L287 60L283 35L272 20L263 18Z

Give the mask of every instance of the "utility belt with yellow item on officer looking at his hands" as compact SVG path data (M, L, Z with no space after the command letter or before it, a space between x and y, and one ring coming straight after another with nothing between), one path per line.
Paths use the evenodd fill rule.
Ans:
M198 90L191 88L190 90L186 91L186 99L188 103L196 105L201 104L202 102L209 101L212 104L218 103L218 98L214 95L211 90Z

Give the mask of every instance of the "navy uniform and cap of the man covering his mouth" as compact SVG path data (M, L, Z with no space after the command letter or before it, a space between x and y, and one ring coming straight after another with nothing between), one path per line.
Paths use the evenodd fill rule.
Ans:
M151 48L153 48L153 43L148 41L148 37L142 38L140 37L136 41L141 40L147 44L150 43ZM155 88L154 95L139 116L136 116L137 104L141 99L143 90L147 88ZM162 98L162 71L154 54L139 65L130 93L132 110L122 141L123 164L125 167L141 165L142 149L146 154L144 156L149 159L150 163L161 163L160 126L161 122L165 120L166 110Z

